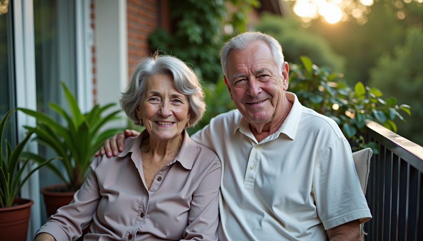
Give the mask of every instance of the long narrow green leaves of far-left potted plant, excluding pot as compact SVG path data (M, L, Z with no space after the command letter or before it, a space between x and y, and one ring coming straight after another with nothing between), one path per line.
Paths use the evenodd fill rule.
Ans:
M19 161L22 160L24 147L37 128L30 130L14 149L12 149L11 144L5 140L5 155L3 157L3 132L6 121L12 112L13 111L8 111L0 120L0 207L12 206L14 199L30 176L41 168L41 166L46 165L56 158L53 157L49 160L45 160L36 154L26 153L27 158L22 162L22 165L19 166ZM38 165L32 168L26 175L23 174L25 167L34 159L39 162Z

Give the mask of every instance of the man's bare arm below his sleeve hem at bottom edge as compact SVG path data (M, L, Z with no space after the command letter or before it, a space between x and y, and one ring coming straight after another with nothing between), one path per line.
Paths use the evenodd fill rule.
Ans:
M326 230L330 241L362 241L360 222L354 220Z

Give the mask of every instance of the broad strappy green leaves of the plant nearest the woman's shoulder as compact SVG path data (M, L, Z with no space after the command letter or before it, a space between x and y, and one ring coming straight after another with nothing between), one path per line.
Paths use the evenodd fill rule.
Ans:
M96 105L88 113L82 114L75 97L65 84L62 83L62 87L71 116L55 103L49 103L49 107L63 118L66 126L39 111L18 109L37 119L38 128L25 128L36 133L36 140L40 144L48 146L62 157L59 163L66 171L63 174L60 168L52 163L48 163L47 167L67 184L68 190L76 191L85 180L94 153L103 145L104 140L122 131L122 128L100 131L106 123L119 119L120 111L102 116L105 111L115 106L111 103L102 107Z

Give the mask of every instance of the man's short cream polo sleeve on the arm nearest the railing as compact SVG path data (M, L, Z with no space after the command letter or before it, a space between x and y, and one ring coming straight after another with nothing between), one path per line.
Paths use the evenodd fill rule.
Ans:
M313 171L313 194L325 230L371 219L346 139L336 140L319 158Z

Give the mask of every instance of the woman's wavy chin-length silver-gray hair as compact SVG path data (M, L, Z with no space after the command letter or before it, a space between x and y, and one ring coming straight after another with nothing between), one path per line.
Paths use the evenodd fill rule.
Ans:
M126 115L139 123L136 108L146 89L147 79L155 74L172 76L173 85L184 95L187 95L190 105L190 127L195 126L206 111L204 93L198 77L182 60L173 56L154 54L153 57L143 58L132 74L131 83L121 93L121 106Z

